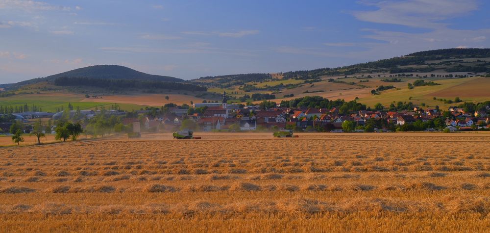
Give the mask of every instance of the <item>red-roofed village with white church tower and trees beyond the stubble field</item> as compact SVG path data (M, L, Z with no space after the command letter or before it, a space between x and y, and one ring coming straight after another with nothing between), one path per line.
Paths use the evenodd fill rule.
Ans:
M462 107L451 106L442 111L436 108L421 108L400 111L341 110L332 108L287 107L228 104L226 94L221 103L196 103L192 107L167 105L165 111L155 108L132 113L121 110L70 110L58 113L23 112L12 117L24 123L28 133L32 119L49 118L46 133L54 133L56 121L65 117L81 122L103 113L119 119L120 125L131 132L171 132L178 129L195 131L276 131L290 129L304 132L394 132L394 131L470 131L490 129L487 109L466 112ZM200 111L199 111L200 110ZM52 121L51 121L52 120ZM85 121L84 121L85 120ZM112 120L114 121L114 120ZM52 123L51 123L52 122ZM11 122L0 123L0 129L8 132ZM121 131L121 130L120 130Z

